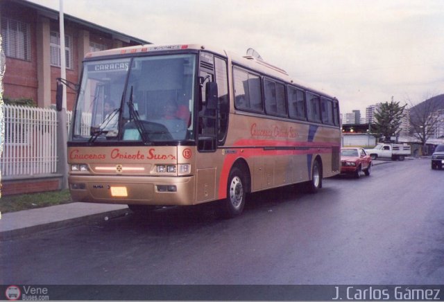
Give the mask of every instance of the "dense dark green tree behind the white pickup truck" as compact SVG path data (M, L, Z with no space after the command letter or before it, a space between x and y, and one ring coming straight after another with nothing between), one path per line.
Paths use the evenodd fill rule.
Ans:
M402 118L404 117L404 108L407 106L400 106L399 102L381 103L381 106L375 113L375 131L384 140L390 140L391 136L398 136L401 129Z

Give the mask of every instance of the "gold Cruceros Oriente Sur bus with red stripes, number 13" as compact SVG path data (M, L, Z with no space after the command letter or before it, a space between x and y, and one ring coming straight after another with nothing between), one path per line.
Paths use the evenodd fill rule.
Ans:
M169 113L165 113L169 112ZM200 44L87 53L68 136L76 202L159 206L219 202L340 171L339 101L293 81L255 51Z

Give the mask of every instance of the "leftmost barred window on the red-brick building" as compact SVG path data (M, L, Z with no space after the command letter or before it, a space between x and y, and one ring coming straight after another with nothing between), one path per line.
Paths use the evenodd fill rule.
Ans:
M7 57L31 61L31 26L24 22L1 18L3 51Z

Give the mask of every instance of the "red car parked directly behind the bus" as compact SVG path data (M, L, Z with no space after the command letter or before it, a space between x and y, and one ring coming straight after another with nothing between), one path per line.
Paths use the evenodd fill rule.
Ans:
M370 175L372 159L363 148L341 148L341 173L355 175L359 178L361 171Z

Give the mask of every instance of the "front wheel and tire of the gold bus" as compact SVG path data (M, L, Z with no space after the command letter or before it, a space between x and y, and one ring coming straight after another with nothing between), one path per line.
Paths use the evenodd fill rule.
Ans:
M223 217L233 218L241 215L245 206L246 182L241 169L233 167L228 176L227 197L222 200Z

